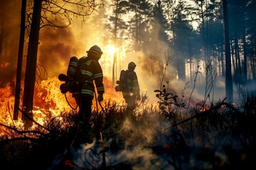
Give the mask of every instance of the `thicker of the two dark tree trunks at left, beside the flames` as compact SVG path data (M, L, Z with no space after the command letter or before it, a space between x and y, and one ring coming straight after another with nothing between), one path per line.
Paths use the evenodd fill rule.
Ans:
M23 111L29 117L33 118L33 94L36 82L36 61L38 52L38 38L41 21L41 4L42 0L34 0L33 16L31 23L31 31L28 42L28 57L26 60L26 74L24 81L24 94L23 94ZM33 123L27 118L22 117L25 123L25 128L30 128Z

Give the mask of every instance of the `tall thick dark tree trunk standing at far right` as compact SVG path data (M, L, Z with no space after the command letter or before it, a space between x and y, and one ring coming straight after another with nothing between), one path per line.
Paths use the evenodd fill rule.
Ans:
M223 0L223 27L224 27L224 40L225 40L225 94L228 100L233 101L233 80L231 70L231 57L230 57L230 38L228 28L228 3Z

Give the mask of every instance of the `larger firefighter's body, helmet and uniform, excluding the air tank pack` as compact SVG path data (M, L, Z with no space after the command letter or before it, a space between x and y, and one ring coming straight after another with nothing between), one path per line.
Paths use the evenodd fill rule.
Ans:
M75 74L75 79L80 85L80 91L79 93L74 93L73 97L79 106L78 132L82 132L82 137L84 138L90 138L88 132L91 128L90 117L95 86L98 94L97 101L103 101L103 94L105 93L102 67L98 61L102 53L102 50L97 45L90 47L90 50L87 50L87 57L81 57L79 59L78 69Z

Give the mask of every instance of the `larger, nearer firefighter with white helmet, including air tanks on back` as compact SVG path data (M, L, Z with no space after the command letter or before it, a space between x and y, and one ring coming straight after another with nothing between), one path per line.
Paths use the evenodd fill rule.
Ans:
M97 101L103 101L103 94L105 93L102 67L98 61L102 53L100 47L94 45L87 51L87 57L81 57L79 60L77 57L70 58L67 72L68 83L63 84L63 87L70 87L68 91L73 94L79 107L78 134L75 137L74 145L82 142L92 142L92 136L89 135L89 131L91 129L90 117L95 86L98 94ZM60 90L65 94L67 91L63 87L60 85Z

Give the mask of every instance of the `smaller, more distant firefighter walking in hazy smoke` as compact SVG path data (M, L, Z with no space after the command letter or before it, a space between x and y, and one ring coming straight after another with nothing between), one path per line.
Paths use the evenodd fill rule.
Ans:
M128 69L121 71L119 81L117 81L119 85L115 88L116 91L122 91L125 103L127 103L127 113L134 111L136 100L140 100L139 82L137 74L134 72L135 67L134 62L129 62Z

